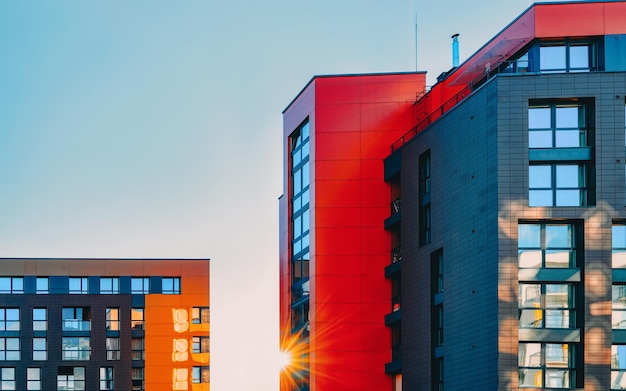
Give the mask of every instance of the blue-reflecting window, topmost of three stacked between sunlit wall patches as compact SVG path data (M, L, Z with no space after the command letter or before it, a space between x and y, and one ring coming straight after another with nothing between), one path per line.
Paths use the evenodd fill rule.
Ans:
M576 267L574 231L573 224L519 224L519 267Z

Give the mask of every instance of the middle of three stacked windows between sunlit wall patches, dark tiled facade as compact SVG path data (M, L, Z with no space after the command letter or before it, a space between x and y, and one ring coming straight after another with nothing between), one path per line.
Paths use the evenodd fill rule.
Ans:
M519 327L576 327L572 284L519 284Z

